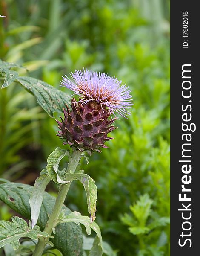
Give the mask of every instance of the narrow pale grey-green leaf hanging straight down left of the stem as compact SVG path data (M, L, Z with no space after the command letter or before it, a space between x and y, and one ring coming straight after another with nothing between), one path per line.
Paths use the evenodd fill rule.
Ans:
M43 173L45 169L42 170ZM47 174L41 174L36 180L33 187L33 192L29 199L30 207L31 207L31 222L32 228L36 225L37 219L40 214L40 208L43 202L43 195L46 189L47 184L51 178Z

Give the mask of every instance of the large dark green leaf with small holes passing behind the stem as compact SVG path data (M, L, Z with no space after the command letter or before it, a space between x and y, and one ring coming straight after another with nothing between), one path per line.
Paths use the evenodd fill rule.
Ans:
M3 180L3 182L5 183L0 184L0 200L25 218L30 219L31 209L29 199L33 186L21 183L6 183L6 180ZM44 192L43 203L37 221L37 225L41 230L44 229L54 204L55 198L47 192ZM65 215L71 213L71 211L64 205L63 211L65 212ZM71 234L73 234L73 236L71 236ZM73 222L59 224L56 227L54 238L50 240L53 242L54 247L63 253L63 256L81 256L83 254L83 235L81 227Z

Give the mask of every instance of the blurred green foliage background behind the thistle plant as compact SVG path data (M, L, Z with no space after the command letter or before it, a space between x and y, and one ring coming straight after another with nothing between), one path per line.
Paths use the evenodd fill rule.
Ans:
M93 154L85 173L98 188L103 240L117 255L169 254L169 1L2 0L0 58L60 87L61 76L87 67L117 76L132 90L110 149ZM1 81L0 81L1 82ZM54 119L17 84L0 90L0 175L34 183L55 147ZM49 188L56 192L56 187ZM87 215L81 185L66 205ZM3 206L1 219L9 219Z

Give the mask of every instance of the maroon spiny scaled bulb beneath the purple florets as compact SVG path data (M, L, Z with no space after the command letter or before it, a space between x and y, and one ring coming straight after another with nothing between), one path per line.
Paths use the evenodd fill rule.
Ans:
M66 109L63 108L64 119L60 116L61 122L56 120L60 129L57 136L65 140L63 144L75 146L89 154L92 151L101 152L100 147L109 148L104 143L113 139L107 135L116 129L111 124L117 118L108 119L110 111L106 106L95 100L80 104L73 98L71 109L66 105Z

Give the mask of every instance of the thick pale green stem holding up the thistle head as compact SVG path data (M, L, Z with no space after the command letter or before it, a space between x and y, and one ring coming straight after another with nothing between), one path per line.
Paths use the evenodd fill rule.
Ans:
M67 172L71 171L72 173L75 172L77 165L80 161L80 155L81 151L74 149L71 156L69 156L69 164L67 167ZM54 209L49 217L49 220L46 223L46 227L44 231L51 236L52 228L54 228L57 224L58 217L60 215L61 209L63 207L63 203L65 201L66 195L68 193L69 187L71 185L71 182L67 185L60 185L60 189L58 192L58 196L56 198L56 202L54 205ZM45 248L46 242L49 240L49 238L43 239L41 238L34 250L33 256L41 256L43 254L43 250Z

